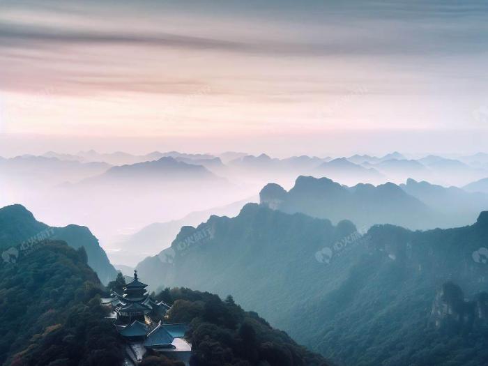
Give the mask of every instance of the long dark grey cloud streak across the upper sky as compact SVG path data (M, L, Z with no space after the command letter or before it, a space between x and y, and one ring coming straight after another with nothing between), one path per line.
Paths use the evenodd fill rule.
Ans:
M459 29L446 40L445 29L413 29L406 24L364 24L367 31L355 38L323 34L293 40L239 40L205 38L160 31L96 31L0 22L0 47L15 49L56 48L76 45L128 45L166 47L208 52L261 54L264 56L337 56L337 55L399 55L485 52L486 41L479 30ZM229 29L231 33L231 30ZM383 34L380 34L383 32ZM321 38L321 39L319 39Z

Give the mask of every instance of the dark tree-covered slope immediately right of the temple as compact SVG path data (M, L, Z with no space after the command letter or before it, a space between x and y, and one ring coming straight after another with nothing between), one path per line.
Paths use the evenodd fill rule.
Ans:
M166 289L158 297L174 302L171 322L190 323L192 366L328 365L256 313L245 312L231 296L222 301L211 293Z

